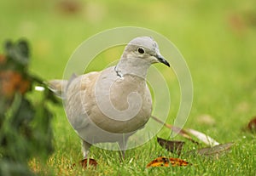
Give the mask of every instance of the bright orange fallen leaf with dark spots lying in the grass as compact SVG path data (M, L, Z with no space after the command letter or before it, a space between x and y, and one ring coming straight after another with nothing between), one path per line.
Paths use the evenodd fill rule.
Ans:
M152 162L147 164L147 167L176 167L176 166L187 166L189 162L186 162L179 158L168 158L166 156L160 156L155 158Z

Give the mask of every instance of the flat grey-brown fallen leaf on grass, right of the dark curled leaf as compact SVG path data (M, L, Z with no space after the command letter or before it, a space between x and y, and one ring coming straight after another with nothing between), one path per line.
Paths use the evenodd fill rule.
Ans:
M234 143L230 142L224 145L215 145L213 147L191 150L187 152L187 154L196 153L201 156L214 156L215 158L218 158L218 156L223 155L224 153L230 151L232 145L234 145Z

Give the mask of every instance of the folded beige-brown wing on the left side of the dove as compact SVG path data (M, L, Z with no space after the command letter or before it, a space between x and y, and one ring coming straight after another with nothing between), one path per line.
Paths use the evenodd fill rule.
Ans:
M101 71L93 71L67 82L65 110L69 122L76 130L89 123L90 108L96 105L93 91L100 75Z

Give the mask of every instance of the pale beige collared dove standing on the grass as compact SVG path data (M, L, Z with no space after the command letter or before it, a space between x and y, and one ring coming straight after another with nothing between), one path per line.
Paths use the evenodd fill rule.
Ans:
M136 37L125 46L117 65L49 81L49 88L64 99L68 121L82 139L84 158L98 143L118 143L120 156L125 157L127 140L152 113L146 78L154 63L170 67L152 37Z

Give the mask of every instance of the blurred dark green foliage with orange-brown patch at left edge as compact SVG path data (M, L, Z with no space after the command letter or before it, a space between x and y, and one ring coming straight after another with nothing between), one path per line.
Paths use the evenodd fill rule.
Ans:
M57 102L44 82L28 72L26 41L5 43L0 55L0 175L33 175L27 162L33 157L45 161L53 151L52 113L47 104ZM33 102L33 86L44 87Z

